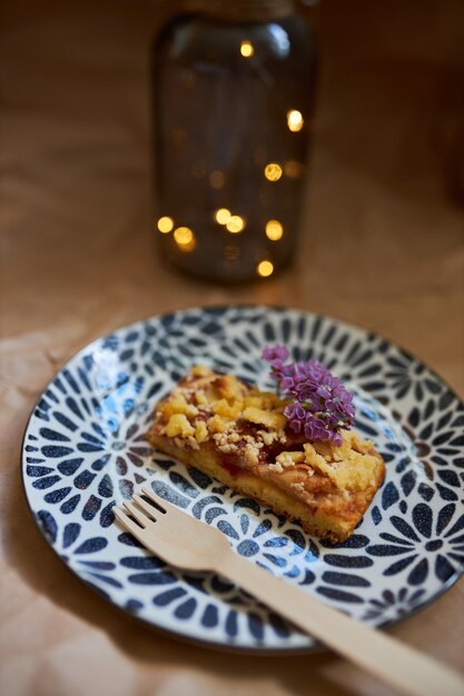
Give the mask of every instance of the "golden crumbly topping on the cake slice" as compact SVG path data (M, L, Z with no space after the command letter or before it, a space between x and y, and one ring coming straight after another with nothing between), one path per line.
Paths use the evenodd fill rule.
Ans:
M218 376L196 366L161 402L157 421L161 434L184 449L199 449L203 443L213 440L225 455L239 455L250 466L265 464L277 476L298 467L307 478L319 474L342 491L375 485L379 459L373 443L348 430L340 430L339 446L295 440L283 412L287 402L275 394L248 387L233 375ZM302 443L299 447L292 447L296 441ZM288 449L282 451L285 446ZM275 456L269 461L272 451ZM305 490L303 483L292 486Z

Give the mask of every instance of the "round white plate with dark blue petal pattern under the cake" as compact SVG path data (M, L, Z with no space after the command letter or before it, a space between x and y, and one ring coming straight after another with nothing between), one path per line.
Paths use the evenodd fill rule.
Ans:
M265 506L152 451L156 401L191 364L270 388L266 344L318 358L355 392L356 428L387 475L355 534L330 546ZM464 405L383 338L298 310L223 307L154 317L98 339L41 395L24 435L26 495L61 559L140 619L216 646L307 649L315 642L225 578L167 567L115 524L111 508L151 485L218 527L238 554L374 626L447 589L464 561Z

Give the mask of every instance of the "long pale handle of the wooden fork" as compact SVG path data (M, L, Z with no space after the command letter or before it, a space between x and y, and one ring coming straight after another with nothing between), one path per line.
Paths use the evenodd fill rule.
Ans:
M366 672L409 696L464 696L464 679L428 655L367 627L235 553L216 570Z

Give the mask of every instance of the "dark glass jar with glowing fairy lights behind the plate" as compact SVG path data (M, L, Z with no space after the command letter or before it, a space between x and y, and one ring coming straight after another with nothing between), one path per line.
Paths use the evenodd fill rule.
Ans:
M316 49L290 2L240 21L218 4L176 19L155 46L157 227L176 267L241 282L295 251Z

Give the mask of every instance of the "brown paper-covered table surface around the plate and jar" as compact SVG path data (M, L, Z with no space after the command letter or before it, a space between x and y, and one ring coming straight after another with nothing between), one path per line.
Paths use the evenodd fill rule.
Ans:
M119 0L95 4L45 2L31 14L33 3L11 3L3 23L0 689L393 694L328 652L272 662L214 653L117 613L45 547L19 451L37 396L79 347L192 305L335 316L407 347L464 395L464 208L453 182L462 6L393 2L385 17L359 0L323 6L300 252L290 271L230 289L177 275L156 252L148 47L157 3L132 3L130 14ZM463 580L391 633L464 673Z

